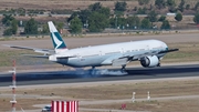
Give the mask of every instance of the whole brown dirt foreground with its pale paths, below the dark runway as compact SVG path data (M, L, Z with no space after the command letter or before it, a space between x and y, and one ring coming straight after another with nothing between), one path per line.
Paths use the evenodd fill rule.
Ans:
M128 111L151 112L198 112L199 106L198 78L161 79L102 83L75 83L56 85L19 86L18 105L23 110L39 110L50 104L51 100L78 100L81 109L121 110L126 104ZM147 92L150 101L147 101ZM136 101L132 102L132 93L136 92ZM1 88L0 112L11 110L9 101L11 90ZM29 112L29 111L25 111ZM80 112L87 112L81 111ZM101 111L102 112L102 111ZM125 112L125 111L124 111Z

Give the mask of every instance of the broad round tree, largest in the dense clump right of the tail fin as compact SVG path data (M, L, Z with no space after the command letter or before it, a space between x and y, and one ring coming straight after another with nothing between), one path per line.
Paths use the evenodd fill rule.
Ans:
M108 19L100 12L92 12L88 17L88 30L91 32L101 32L108 26Z

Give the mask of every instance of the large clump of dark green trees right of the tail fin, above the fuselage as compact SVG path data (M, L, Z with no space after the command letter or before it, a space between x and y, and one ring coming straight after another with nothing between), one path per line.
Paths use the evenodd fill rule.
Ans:
M155 10L147 14L147 18L140 19L137 16L124 18L122 14L125 11L125 2L115 3L115 16L111 17L108 8L102 7L100 2L90 6L85 10L74 12L69 19L72 33L80 33L83 27L87 28L90 32L101 32L105 28L119 28L119 29L151 29L154 22L161 21L161 29L170 29L169 21L165 16L157 18ZM177 13L177 21L182 20L182 14Z

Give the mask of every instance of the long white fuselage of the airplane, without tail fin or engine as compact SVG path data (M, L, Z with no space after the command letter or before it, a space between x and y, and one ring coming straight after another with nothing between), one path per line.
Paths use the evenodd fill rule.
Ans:
M166 51L167 44L159 40L130 41L104 45L94 45L63 50L60 53L50 55L49 60L70 67L101 67L112 65L113 60L125 57L133 57L132 61L151 52ZM135 57L134 57L135 55ZM67 57L67 58L64 58ZM158 59L164 54L157 55Z

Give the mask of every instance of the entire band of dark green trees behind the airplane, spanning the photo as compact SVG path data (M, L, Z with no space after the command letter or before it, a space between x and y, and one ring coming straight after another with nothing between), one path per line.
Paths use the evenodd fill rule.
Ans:
M166 20L165 16L158 18L155 10L150 11L146 18L140 19L137 16L124 18L123 13L126 9L125 2L115 3L115 16L111 16L109 8L103 7L100 2L88 6L87 9L76 11L71 14L67 19L69 27L72 33L81 33L82 28L87 28L90 32L102 32L105 28L116 29L153 29L155 28L154 22L161 22L160 29L170 29L169 21ZM182 14L177 13L175 19L177 21L182 20ZM199 23L199 13L196 13L193 21ZM24 27L24 34L38 34L48 33L49 28L46 24L40 26L42 29L39 31L39 22L33 18L20 24L11 14L4 14L2 23L6 27L3 32L4 35L15 34L18 27ZM64 23L60 22L56 24L57 30L62 29Z

